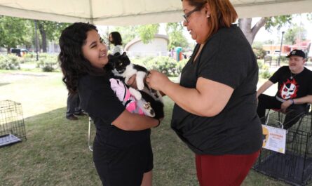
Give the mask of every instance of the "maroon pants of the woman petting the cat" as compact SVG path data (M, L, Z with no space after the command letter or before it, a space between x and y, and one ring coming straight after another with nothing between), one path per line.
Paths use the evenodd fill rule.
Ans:
M259 156L257 151L246 155L198 155L196 171L201 186L240 185Z

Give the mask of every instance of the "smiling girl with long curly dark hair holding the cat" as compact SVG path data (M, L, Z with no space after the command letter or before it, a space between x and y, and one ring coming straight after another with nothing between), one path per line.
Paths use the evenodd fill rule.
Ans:
M60 66L69 93L93 119L93 161L105 186L151 186L151 130L157 119L128 112L111 90L104 44L94 25L76 22L60 36Z

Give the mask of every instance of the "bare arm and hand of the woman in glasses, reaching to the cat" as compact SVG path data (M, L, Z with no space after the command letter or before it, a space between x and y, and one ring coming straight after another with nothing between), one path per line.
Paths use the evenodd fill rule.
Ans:
M233 93L230 86L203 77L198 78L196 88L185 88L154 70L147 77L147 82L151 88L168 95L182 109L203 117L219 114Z

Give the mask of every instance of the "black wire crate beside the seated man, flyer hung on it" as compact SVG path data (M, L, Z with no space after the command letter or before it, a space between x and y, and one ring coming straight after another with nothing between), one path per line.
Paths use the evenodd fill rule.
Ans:
M271 111L267 125L281 128L284 119L285 114ZM306 185L312 175L311 113L301 114L294 120L297 122L286 134L285 154L262 149L253 168L291 185Z

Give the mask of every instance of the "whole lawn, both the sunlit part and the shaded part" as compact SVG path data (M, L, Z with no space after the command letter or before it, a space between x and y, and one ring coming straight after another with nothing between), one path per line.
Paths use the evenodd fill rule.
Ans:
M88 150L88 118L65 119L67 91L59 72L0 71L0 100L22 103L27 141L0 148L0 185L100 185ZM198 185L194 154L170 129L173 102L152 129L156 186ZM250 171L243 185L287 185Z

